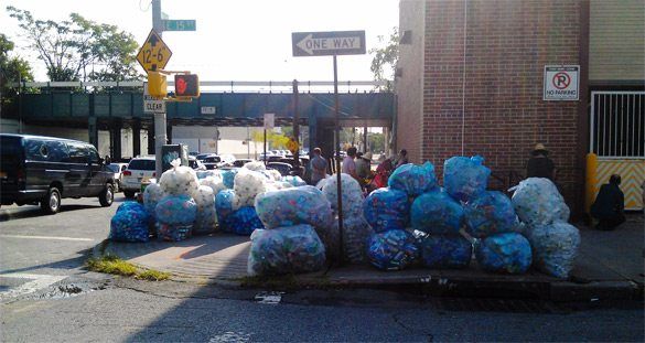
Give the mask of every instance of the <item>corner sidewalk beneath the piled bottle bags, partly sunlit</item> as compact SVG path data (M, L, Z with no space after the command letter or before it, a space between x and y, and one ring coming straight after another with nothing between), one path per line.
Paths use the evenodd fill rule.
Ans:
M580 227L580 226L579 226ZM298 287L419 287L440 294L530 296L551 300L642 299L644 286L643 214L627 216L613 232L580 227L582 243L569 280L535 270L520 276L484 272L473 260L465 270L411 268L380 271L372 266L344 266L298 275ZM105 242L95 249L110 253L144 268L169 271L178 279L234 283L248 280L248 237L216 234L169 243ZM279 278L277 278L279 279ZM258 281L258 282L261 282Z

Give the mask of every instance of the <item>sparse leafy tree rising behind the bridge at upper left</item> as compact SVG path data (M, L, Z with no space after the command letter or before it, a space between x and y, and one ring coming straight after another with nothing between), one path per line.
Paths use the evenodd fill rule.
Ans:
M115 25L98 24L80 14L69 20L34 19L31 12L8 7L30 47L45 64L50 81L123 81L140 78L137 42Z

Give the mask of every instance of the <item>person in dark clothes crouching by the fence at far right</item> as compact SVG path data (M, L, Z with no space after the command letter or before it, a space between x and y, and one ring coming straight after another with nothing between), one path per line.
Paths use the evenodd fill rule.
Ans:
M608 184L603 184L591 205L591 216L599 221L595 228L614 229L625 223L625 195L621 187L621 175L613 174Z

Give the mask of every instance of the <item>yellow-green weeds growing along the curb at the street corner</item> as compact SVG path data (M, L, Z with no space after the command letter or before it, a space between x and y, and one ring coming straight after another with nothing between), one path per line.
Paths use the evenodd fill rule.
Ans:
M131 277L139 280L161 281L170 278L169 272L159 271L154 269L139 270L137 266L127 260L111 254L103 255L101 257L90 257L86 261L87 269L104 274L114 274L125 277Z

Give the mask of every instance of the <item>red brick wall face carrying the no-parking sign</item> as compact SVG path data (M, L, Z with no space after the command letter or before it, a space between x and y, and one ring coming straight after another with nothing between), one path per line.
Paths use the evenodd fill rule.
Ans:
M576 164L578 101L544 101L546 64L579 64L580 1L469 0L426 2L422 159L481 154L494 174L525 174L536 142L549 148L569 202L582 187ZM401 135L401 133L399 133ZM570 203L570 205L572 205Z

